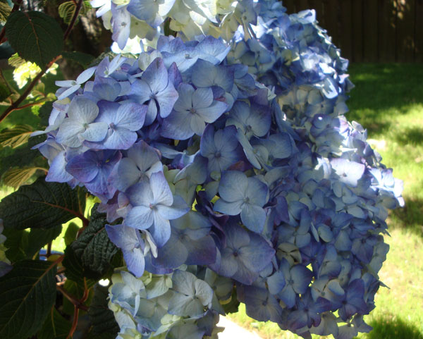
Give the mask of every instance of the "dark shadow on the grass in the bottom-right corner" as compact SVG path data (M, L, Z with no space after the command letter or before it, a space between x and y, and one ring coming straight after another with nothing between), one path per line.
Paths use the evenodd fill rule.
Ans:
M366 339L423 339L423 333L397 317L384 317L370 321L373 330L365 335Z

